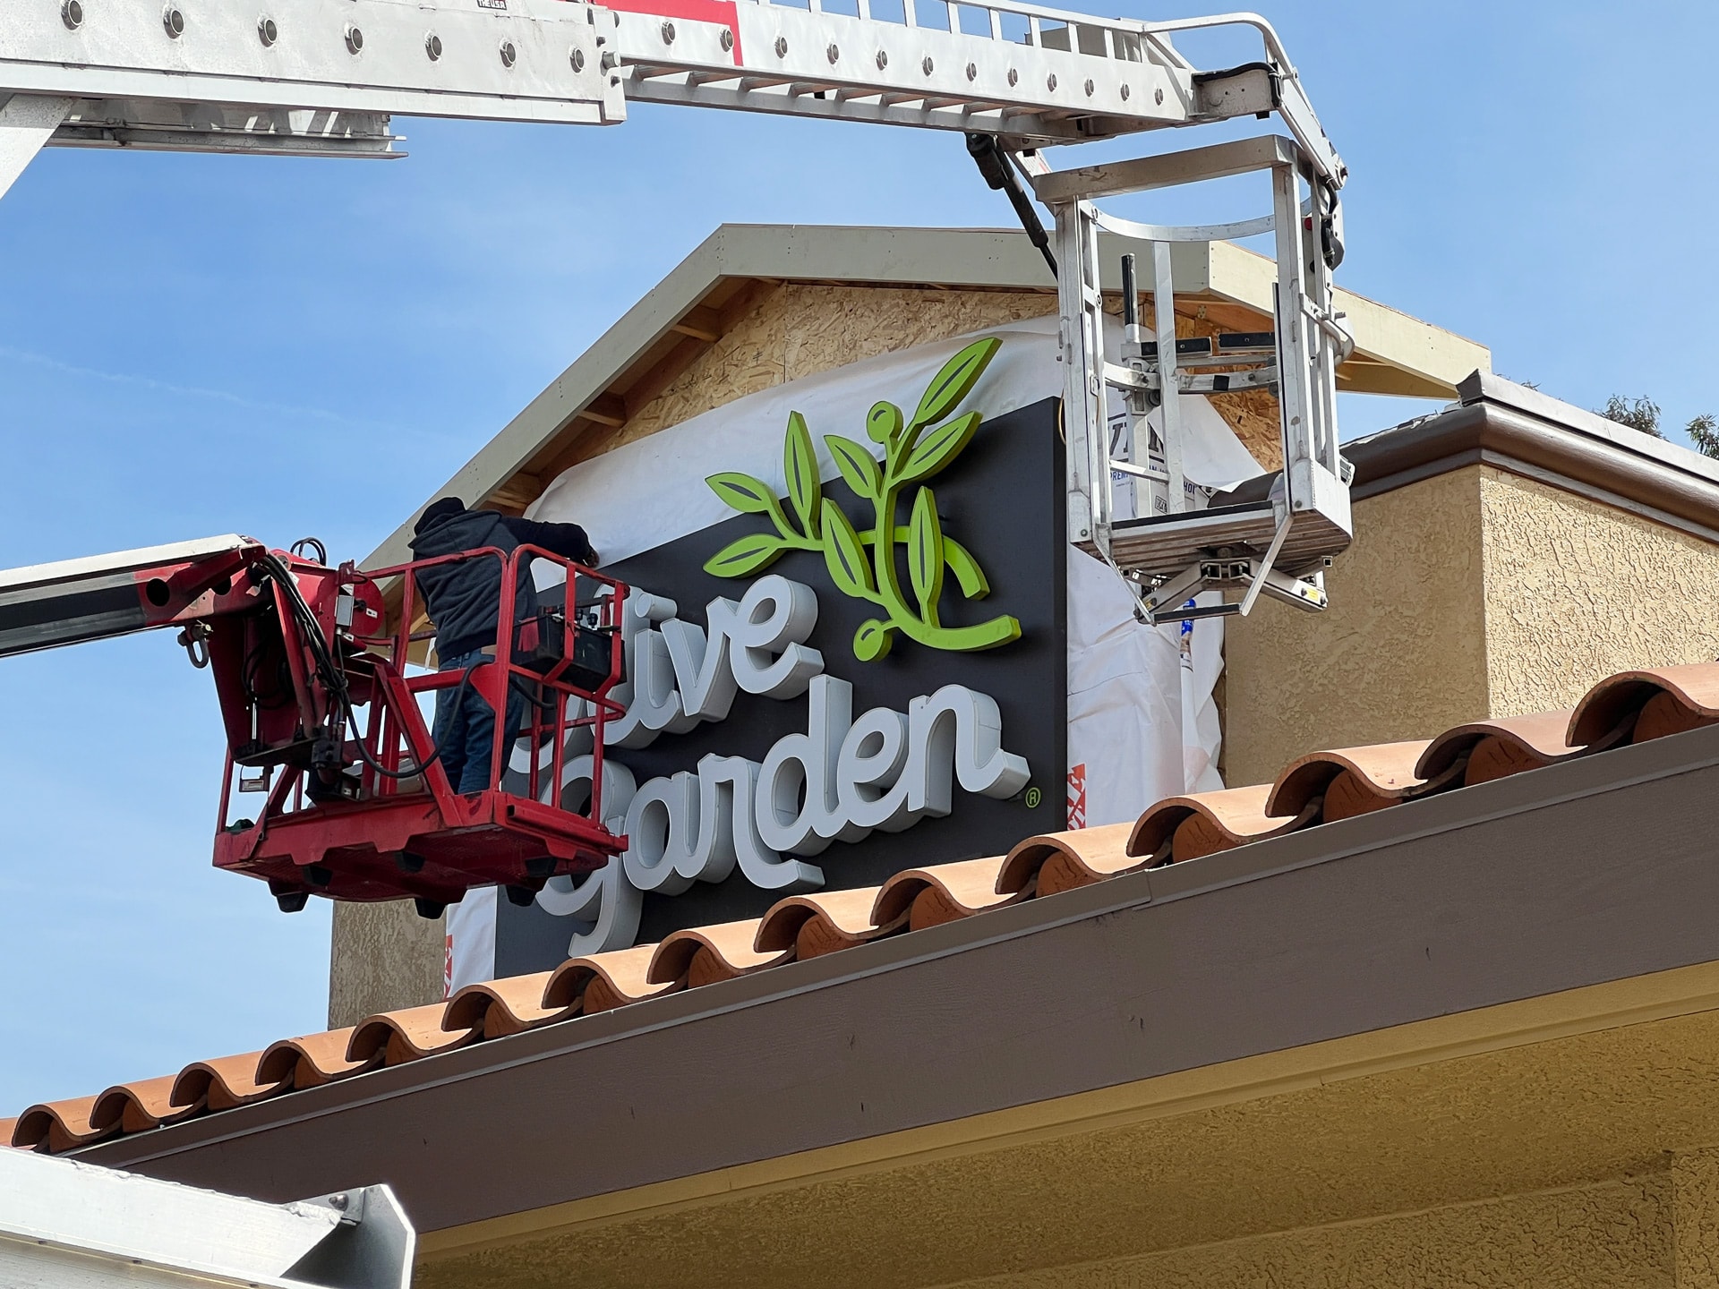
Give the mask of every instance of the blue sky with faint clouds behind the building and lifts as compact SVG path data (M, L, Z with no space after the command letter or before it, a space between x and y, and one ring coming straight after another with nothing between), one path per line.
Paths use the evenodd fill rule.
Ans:
M1719 411L1671 308L1719 272L1719 10L1262 9L1353 172L1344 285L1581 406ZM26 170L0 199L0 567L234 529L364 555L717 223L1011 222L956 136L648 107L397 129L409 160ZM1418 409L1346 399L1344 431ZM215 696L170 636L3 662L0 712L0 1115L323 1026L327 906L287 918L210 868Z

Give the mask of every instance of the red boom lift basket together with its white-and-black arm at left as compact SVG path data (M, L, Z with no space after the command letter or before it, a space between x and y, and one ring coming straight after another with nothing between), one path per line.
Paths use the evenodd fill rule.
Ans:
M602 730L621 715L609 699L621 675L621 583L535 547L376 574L328 567L316 541L299 547L316 559L229 535L0 572L0 657L180 627L193 663L215 677L227 729L215 864L266 880L287 911L313 894L411 895L433 918L486 883L528 904L550 877L602 868L626 849L602 808ZM409 674L418 574L462 560L495 565L495 658ZM567 586L590 593L574 614L516 615L533 560L560 564ZM402 586L395 627L383 579ZM548 756L509 779L512 749L497 737L490 789L457 794L419 708L452 686L471 686L493 712L511 691L529 698L521 734ZM588 775L566 763L569 739L590 744ZM583 782L588 797L567 794L574 808L564 808L562 789ZM239 818L246 792L263 801Z

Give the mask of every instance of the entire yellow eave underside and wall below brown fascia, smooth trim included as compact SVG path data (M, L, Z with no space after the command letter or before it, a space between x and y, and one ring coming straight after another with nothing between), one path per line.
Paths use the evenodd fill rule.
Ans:
M416 1284L1714 1289L1716 1007L1704 964L741 1164L425 1232Z

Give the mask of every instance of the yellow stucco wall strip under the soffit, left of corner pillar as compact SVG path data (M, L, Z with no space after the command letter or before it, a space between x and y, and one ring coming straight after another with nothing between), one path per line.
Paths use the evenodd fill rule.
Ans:
M959 1289L1671 1289L1669 1177L1257 1236ZM1681 1280L1676 1282L1681 1289ZM954 1286L951 1289L956 1289Z

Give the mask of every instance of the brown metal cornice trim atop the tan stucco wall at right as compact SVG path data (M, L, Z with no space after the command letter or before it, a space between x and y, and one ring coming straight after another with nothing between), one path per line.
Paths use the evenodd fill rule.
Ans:
M1485 464L1719 541L1719 462L1490 373L1458 388L1459 406L1343 445L1353 500ZM1222 500L1260 500L1272 480Z

